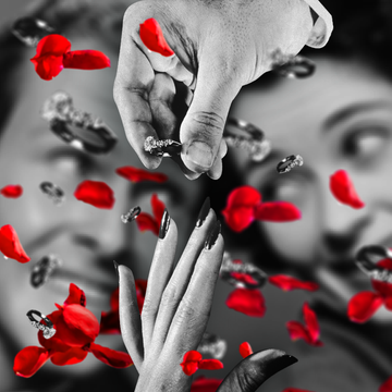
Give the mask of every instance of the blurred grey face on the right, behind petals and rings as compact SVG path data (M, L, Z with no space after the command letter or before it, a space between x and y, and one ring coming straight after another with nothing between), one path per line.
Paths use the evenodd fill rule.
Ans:
M260 126L273 152L262 163L244 164L246 183L264 200L286 200L302 211L290 223L258 222L273 249L293 266L309 265L343 303L369 290L354 265L364 245L392 247L392 85L365 65L317 59L307 79L283 79L272 88L240 94L231 113ZM304 166L278 174L277 164L301 155ZM366 204L336 201L329 177L344 169Z

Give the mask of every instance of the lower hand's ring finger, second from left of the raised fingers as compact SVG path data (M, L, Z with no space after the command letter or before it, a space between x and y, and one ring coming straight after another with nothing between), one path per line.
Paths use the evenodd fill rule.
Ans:
M169 222L169 229L162 238L162 231L164 232L166 221ZM142 310L143 343L146 354L148 354L148 348L150 346L161 296L174 267L176 242L177 229L175 222L170 218L167 210L164 210L159 238L148 274L146 296Z

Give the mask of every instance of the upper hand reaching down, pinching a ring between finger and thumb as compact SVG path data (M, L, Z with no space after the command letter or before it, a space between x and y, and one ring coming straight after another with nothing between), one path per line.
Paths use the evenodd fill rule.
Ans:
M149 50L140 39L140 25L151 19L174 54ZM188 179L203 173L219 179L226 154L223 128L241 87L275 65L277 50L295 56L305 45L320 48L331 32L332 17L318 0L132 4L114 82L131 146L146 168L156 169L162 157L145 151L145 139L180 140L181 155L172 159Z

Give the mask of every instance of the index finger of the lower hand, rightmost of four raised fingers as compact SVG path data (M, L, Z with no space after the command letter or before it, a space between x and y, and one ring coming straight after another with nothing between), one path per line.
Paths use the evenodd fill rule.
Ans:
M182 359L187 351L196 350L206 330L223 257L224 242L220 234L219 221L210 232L206 244L211 244L211 248L208 249L206 246L203 248L171 322L162 350L162 355L168 358Z

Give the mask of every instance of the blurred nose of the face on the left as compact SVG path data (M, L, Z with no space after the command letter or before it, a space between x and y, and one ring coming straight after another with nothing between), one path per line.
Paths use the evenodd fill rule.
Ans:
M112 209L98 209L93 206L79 206L79 224L74 231L73 240L76 244L86 246L105 258L123 252L132 242L134 223L123 223L121 215L126 213L131 205L131 184L119 179L111 181L110 187L114 192L115 203ZM83 212L82 212L83 210Z

